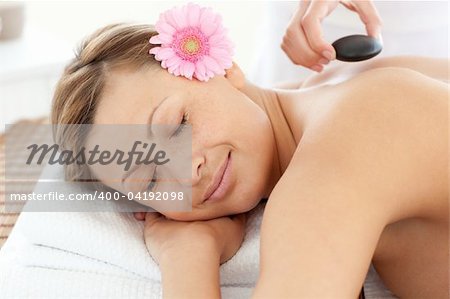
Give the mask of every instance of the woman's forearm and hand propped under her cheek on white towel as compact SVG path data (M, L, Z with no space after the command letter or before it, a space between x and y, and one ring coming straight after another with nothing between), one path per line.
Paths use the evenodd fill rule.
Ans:
M160 266L163 297L220 298L219 266L241 246L245 223L245 214L184 222L146 213L145 244Z

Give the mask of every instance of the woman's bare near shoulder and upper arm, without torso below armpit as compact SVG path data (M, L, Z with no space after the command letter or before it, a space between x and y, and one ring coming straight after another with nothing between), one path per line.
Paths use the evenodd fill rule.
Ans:
M317 105L264 211L255 298L356 298L386 225L447 219L447 96L401 68L311 93Z

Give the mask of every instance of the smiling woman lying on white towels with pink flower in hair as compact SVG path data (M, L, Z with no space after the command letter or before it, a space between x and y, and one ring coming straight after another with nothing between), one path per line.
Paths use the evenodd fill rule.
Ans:
M217 35L202 65L183 65L175 54L191 59L205 40L157 34L117 24L90 36L52 121L146 124L158 107L152 124L192 126L192 211L135 215L164 297L220 297L219 266L261 198L253 298L357 298L371 263L398 297L448 297L447 60L373 59L263 89ZM167 42L185 44L162 51Z

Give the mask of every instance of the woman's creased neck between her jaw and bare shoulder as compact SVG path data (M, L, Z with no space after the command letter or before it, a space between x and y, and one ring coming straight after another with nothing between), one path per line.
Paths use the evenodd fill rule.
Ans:
M265 197L268 197L287 169L297 148L297 142L292 133L291 124L286 118L280 103L279 92L260 88L248 81L240 90L266 113L271 124L275 142L273 146L272 171L264 193Z

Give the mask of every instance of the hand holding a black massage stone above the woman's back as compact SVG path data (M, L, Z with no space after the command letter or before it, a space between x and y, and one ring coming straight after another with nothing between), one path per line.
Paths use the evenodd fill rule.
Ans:
M369 36L380 37L381 19L370 0L302 0L281 44L292 62L321 72L324 65L336 58L333 46L323 38L321 22L339 3L359 15Z

